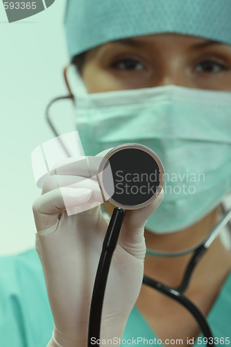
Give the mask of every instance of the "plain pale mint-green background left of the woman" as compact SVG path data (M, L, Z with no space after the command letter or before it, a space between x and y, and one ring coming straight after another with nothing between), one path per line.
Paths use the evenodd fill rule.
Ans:
M33 178L31 152L53 137L44 120L46 104L67 94L62 78L69 62L62 26L65 2L56 0L37 15L11 24L0 3L0 255L35 244L31 205L40 189ZM62 133L74 130L71 108L65 103L52 112L60 118Z

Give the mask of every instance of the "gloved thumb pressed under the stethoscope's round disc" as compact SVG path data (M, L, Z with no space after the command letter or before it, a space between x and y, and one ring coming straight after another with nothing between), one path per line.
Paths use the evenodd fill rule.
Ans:
M144 257L145 242L144 242L144 226L148 217L157 209L164 198L164 191L161 190L157 198L145 208L139 210L128 210L121 229L119 244L128 253L136 257ZM158 213L158 212L157 212Z

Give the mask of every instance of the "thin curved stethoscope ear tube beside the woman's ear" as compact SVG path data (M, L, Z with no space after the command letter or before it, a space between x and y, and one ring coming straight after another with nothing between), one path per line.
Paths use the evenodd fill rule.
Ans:
M51 115L50 115L50 109L51 106L56 102L56 101L60 101L60 100L66 100L66 99L71 99L72 102L75 105L75 101L74 101L74 95L71 92L71 88L69 87L69 83L67 80L67 69L69 68L69 65L67 65L63 71L64 74L64 78L65 78L65 83L67 85L67 89L69 91L69 95L67 96L58 96L57 98L51 100L49 102L49 104L46 106L46 110L45 110L45 118L47 123L49 124L49 127L51 128L51 130L53 131L53 134L55 135L55 137L58 137L58 141L60 142L62 148L64 149L65 153L67 154L67 158L71 158L71 154L69 153L67 147L65 146L65 144L62 142L62 140L60 139L60 135L58 133L58 130L55 128L53 122L51 121Z

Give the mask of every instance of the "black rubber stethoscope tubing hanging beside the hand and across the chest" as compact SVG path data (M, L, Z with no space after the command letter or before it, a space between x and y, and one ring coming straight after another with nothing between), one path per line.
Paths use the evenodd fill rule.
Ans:
M112 213L112 218L110 220L108 230L105 235L105 239L103 241L103 248L101 252L101 257L99 261L99 266L96 272L96 279L94 282L94 289L92 294L92 303L89 315L89 330L88 330L88 343L87 346L100 346L97 341L100 341L100 330L101 330L101 313L103 308L103 297L105 294L105 287L108 279L108 273L110 270L110 262L112 260L112 255L114 253L114 249L117 245L117 241L119 239L119 234L121 231L121 227L123 224L123 219L125 217L126 211L121 208L114 208ZM212 232L209 232L209 237L205 238L204 244L200 244L195 250L194 254L191 256L189 263L187 265L187 269L185 270L185 274L182 278L181 284L176 288L171 288L169 286L164 285L161 282L157 282L152 278L148 278L144 276L143 283L144 285L148 285L153 289L156 289L160 293L173 298L173 300L180 303L184 306L196 319L198 325L200 326L203 335L207 337L207 346L215 346L214 337L212 335L212 331L209 328L209 324L207 323L207 319L203 312L201 312L194 303L192 303L189 298L187 298L183 292L189 286L189 281L191 279L191 275L194 271L196 264L198 264L199 260L209 246L212 244L214 239L221 232L221 226L224 227L226 223L230 220L231 210L229 210L219 221L216 226L212 229ZM92 338L94 337L94 342L92 342ZM212 342L211 342L212 341Z

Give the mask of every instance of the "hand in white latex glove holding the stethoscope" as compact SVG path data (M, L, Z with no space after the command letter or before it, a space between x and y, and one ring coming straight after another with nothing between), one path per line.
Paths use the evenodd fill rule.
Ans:
M66 201L70 210L74 206L93 206L101 201L101 193L94 177L87 179L89 170L81 164L72 162L64 168L62 176L53 178L62 183L74 178L80 185L72 188L54 185L53 190L37 198L33 204L36 249L55 322L53 337L47 346L83 347L87 346L92 289L108 221L99 206L68 216ZM105 290L101 339L123 335L142 285L146 252L144 225L163 196L161 192L145 208L126 212Z

